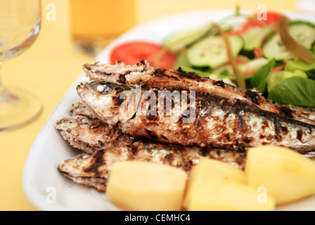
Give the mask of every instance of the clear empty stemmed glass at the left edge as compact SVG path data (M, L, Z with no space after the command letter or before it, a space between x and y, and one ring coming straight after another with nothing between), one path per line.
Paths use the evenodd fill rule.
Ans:
M0 0L0 65L29 49L40 28L40 0ZM3 86L0 80L0 131L20 127L40 113L35 96Z

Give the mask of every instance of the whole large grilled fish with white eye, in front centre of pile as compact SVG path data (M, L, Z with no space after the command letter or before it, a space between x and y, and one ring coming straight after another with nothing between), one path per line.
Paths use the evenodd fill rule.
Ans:
M96 86L108 86L115 89L108 93L98 92ZM184 146L217 147L245 150L255 146L285 146L300 153L315 149L315 126L293 120L293 118L262 110L257 105L248 104L239 99L222 98L195 92L195 104L188 103L186 108L172 115L148 112L148 100L140 99L133 105L131 113L122 115L116 99L122 91L130 91L136 98L136 87L108 82L87 82L77 86L82 101L96 117L109 124L119 124L125 134L155 139L163 143L178 143ZM148 89L141 89L143 94ZM158 96L158 91L155 90ZM187 98L191 99L190 92ZM159 105L158 98L156 104ZM137 103L134 100L134 103ZM162 103L163 105L164 103ZM142 114L137 115L141 108ZM175 105L172 105L174 110ZM186 110L195 110L195 117L189 123L183 123ZM158 111L158 110L157 110ZM115 115L115 118L113 117Z

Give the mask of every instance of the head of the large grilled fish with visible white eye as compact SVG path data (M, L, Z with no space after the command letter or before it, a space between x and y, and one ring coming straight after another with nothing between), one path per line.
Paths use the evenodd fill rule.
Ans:
M111 82L82 82L77 93L98 119L108 124L129 120L136 113L136 87Z

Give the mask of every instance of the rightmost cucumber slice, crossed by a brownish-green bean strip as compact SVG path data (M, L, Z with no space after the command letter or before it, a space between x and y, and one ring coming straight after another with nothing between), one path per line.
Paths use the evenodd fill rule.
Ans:
M289 32L292 37L304 45L307 49L311 49L311 44L315 41L315 27L311 23L290 23ZM293 58L293 54L288 51L282 44L280 34L274 34L269 41L264 44L262 51L266 58L276 60L288 60Z

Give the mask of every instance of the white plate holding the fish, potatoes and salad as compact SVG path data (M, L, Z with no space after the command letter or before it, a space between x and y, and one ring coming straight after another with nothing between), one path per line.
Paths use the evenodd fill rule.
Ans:
M123 41L137 39L161 43L172 32L217 21L232 13L233 11L193 11L152 20L113 41L96 60L108 63L111 49ZM288 13L288 15L291 18L315 20L311 14L306 13ZM82 73L53 110L27 156L23 171L23 191L30 203L38 210L118 210L106 198L105 193L82 184L75 184L57 170L62 160L82 153L71 148L63 140L54 128L54 124L68 115L70 105L78 99L75 86L84 80L86 77ZM277 210L315 210L315 195L295 204L278 207Z

